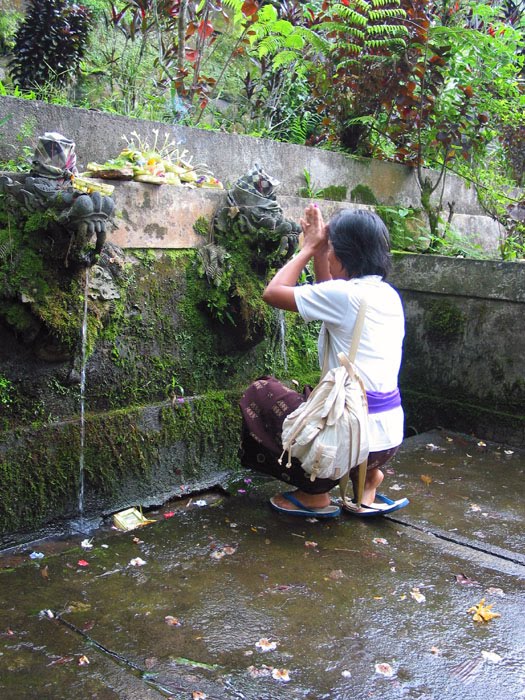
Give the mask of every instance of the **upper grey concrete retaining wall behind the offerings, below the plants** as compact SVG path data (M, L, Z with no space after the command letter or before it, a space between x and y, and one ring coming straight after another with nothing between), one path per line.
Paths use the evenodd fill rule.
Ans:
M237 136L193 129L173 124L134 120L85 109L72 109L32 100L0 97L0 160L22 153L28 143L16 136L24 126L34 141L45 131L58 131L73 139L79 167L88 161L104 162L125 146L123 136L134 131L150 143L158 130L162 143L167 134L179 151L186 150L194 163L206 163L225 187L260 163L280 182L282 196L295 196L304 187L307 170L317 189L344 185L350 193L357 185L367 185L385 205L420 207L419 187L411 168L316 148L278 143L250 136ZM432 177L432 173L426 173ZM435 177L435 175L434 175ZM436 192L436 197L440 196ZM473 187L448 175L444 182L443 208L454 203L454 226L474 243L494 254L501 235L499 225L482 211Z

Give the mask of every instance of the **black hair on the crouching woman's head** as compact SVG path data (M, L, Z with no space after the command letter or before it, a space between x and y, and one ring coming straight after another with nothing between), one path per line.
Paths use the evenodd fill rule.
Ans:
M343 209L328 223L334 253L348 276L379 275L392 269L390 236L384 221L366 209Z

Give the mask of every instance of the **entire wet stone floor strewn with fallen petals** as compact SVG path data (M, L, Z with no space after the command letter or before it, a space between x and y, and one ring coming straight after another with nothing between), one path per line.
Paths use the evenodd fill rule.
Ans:
M390 465L411 504L389 517L280 515L246 472L91 548L4 552L0 697L525 698L524 476L523 452L432 432Z

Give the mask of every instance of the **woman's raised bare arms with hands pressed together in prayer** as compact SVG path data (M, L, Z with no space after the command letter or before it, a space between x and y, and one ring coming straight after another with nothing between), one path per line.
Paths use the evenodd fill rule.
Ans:
M316 281L331 279L327 259L327 230L316 205L310 204L306 208L304 219L300 223L304 233L303 247L275 273L263 292L263 300L267 304L285 311L297 311L294 287L312 258Z

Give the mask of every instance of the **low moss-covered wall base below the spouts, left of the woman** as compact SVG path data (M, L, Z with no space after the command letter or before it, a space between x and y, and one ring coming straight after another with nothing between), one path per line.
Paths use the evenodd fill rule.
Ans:
M224 482L238 466L236 392L86 418L84 514L151 506ZM218 438L218 436L220 436ZM78 515L80 426L25 428L0 448L0 543Z

